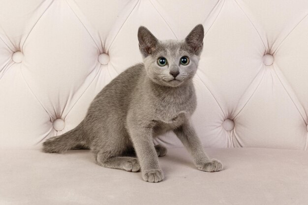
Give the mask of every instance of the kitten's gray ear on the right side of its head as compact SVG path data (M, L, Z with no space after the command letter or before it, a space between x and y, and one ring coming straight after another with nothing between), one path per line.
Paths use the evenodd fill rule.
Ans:
M202 24L198 24L193 28L185 38L185 42L188 45L190 51L199 56L203 48L204 29Z

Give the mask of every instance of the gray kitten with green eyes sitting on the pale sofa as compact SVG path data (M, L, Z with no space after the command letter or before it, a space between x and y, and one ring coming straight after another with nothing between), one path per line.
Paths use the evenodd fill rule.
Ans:
M220 171L221 163L207 157L190 121L196 108L192 78L203 37L202 25L192 29L183 41L159 41L147 28L140 27L143 63L126 69L103 88L82 122L48 139L43 151L89 148L100 166L128 172L141 169L145 181L159 182L164 176L157 156L164 156L167 149L154 146L153 138L173 130L199 170Z

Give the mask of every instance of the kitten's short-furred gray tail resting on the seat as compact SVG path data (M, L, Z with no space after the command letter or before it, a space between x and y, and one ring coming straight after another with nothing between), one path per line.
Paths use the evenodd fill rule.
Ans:
M65 153L69 149L76 147L90 148L85 140L85 133L79 124L74 129L46 140L43 143L42 150L48 153Z

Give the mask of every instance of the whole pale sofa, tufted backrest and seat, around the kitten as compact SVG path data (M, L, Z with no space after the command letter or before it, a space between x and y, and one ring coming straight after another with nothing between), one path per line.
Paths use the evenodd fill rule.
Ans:
M307 205L308 0L1 0L0 205ZM205 28L192 117L224 168L201 172L173 133L165 179L89 150L43 153L94 96L141 62L137 29Z

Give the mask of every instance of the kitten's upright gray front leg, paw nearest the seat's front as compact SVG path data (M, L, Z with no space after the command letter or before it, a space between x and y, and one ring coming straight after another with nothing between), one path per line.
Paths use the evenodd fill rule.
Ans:
M151 122L130 120L127 124L129 135L141 166L143 179L148 182L162 181L164 176L158 164Z

